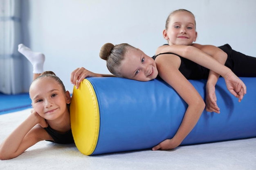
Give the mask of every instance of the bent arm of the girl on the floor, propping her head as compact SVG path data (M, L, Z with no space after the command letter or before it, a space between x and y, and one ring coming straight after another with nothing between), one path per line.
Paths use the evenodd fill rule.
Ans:
M0 159L12 159L41 140L53 140L39 124L47 127L45 119L34 111L2 142Z

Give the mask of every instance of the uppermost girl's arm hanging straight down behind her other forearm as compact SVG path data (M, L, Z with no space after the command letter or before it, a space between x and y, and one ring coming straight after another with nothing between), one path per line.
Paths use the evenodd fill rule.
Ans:
M206 52L211 57L225 65L227 61L227 53L220 48L211 45L193 44L192 46ZM206 111L220 113L220 108L217 105L217 98L215 94L215 85L220 77L219 74L210 70L206 83Z

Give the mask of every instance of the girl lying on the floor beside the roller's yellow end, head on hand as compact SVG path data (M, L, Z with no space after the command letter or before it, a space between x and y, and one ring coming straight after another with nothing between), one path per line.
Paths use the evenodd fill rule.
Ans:
M39 141L74 143L70 125L70 93L53 72L43 72L45 56L23 44L18 51L33 64L29 88L31 114L0 144L0 159L12 159ZM42 74L41 74L42 73Z

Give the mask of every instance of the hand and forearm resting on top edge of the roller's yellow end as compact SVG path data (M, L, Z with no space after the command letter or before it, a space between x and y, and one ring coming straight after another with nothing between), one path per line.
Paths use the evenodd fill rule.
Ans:
M86 70L85 68L77 68L71 73L70 81L71 84L76 85L76 88L78 89L80 86L80 83L85 79L86 77L115 77L112 74L97 74L94 72L90 72L89 70Z

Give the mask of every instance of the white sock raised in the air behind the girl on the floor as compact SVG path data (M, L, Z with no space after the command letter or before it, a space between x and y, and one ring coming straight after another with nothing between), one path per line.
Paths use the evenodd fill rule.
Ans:
M33 52L24 44L18 45L18 51L23 54L33 65L33 73L40 74L43 72L43 65L45 62L45 55L41 52Z

